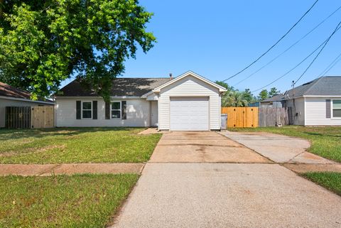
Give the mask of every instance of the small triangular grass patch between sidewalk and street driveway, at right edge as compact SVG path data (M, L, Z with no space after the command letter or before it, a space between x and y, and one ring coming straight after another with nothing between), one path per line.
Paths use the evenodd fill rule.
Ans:
M301 175L341 196L341 173L303 173Z

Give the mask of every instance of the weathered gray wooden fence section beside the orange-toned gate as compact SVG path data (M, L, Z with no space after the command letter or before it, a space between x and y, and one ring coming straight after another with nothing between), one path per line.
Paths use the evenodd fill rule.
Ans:
M288 108L260 107L259 126L289 125Z

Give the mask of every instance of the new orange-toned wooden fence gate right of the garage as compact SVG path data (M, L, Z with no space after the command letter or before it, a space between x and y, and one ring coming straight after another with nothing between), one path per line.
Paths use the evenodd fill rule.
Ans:
M222 107L227 114L227 127L257 127L258 107Z

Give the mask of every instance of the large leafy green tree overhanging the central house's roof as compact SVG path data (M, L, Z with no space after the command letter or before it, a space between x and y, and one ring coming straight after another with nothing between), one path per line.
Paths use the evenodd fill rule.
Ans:
M137 0L0 0L0 81L33 94L79 77L104 99L124 60L155 38Z

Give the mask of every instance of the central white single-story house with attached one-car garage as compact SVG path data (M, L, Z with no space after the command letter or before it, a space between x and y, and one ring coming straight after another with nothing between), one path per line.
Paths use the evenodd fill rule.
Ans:
M225 91L191 71L174 79L118 77L112 81L110 103L106 103L74 80L55 96L56 126L219 130L221 94Z

